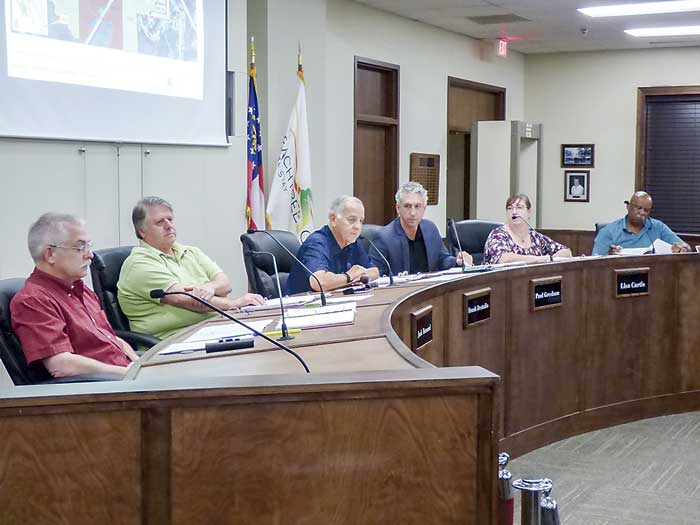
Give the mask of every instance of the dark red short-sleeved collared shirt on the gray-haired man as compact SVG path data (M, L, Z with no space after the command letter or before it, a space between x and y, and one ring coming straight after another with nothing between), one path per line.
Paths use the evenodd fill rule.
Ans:
M64 352L128 366L95 292L82 280L68 285L35 268L10 303L12 329L27 364Z

